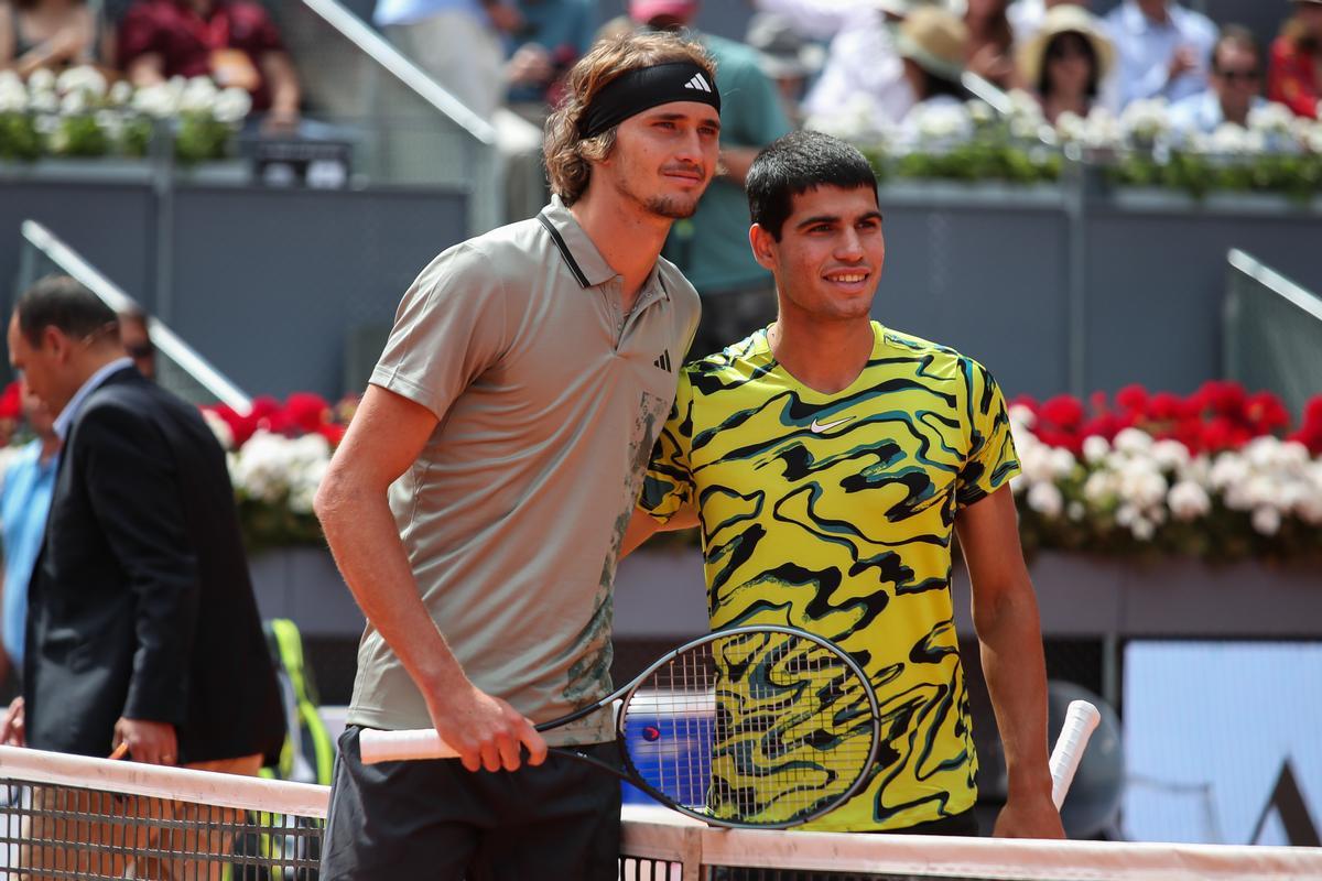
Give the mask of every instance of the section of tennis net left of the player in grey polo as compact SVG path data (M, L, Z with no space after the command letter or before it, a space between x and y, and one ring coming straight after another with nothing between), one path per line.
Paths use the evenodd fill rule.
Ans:
M0 866L19 881L311 881L328 790L0 748Z

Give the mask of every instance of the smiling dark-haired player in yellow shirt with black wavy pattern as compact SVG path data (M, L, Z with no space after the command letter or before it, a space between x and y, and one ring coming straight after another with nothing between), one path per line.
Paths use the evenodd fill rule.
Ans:
M995 833L1063 837L1001 390L976 361L871 320L886 240L857 149L787 135L747 189L777 320L683 369L625 547L701 523L714 629L801 627L865 667L882 716L871 778L801 828L973 835L957 532L1009 766Z

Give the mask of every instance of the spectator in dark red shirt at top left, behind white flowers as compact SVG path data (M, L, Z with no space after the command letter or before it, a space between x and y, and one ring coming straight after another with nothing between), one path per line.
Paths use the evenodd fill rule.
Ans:
M139 87L210 77L222 88L243 88L264 131L299 128L293 62L254 0L136 0L119 26L119 62Z

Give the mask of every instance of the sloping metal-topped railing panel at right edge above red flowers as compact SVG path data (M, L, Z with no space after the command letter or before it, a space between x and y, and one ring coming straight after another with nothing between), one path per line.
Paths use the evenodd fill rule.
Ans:
M1225 376L1276 392L1298 413L1322 392L1322 297L1237 248L1228 263Z

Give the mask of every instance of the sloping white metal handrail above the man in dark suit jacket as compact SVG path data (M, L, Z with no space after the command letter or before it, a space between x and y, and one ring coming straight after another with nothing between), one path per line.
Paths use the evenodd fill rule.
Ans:
M65 244L36 221L24 221L19 264L19 291L37 279L58 272L71 276L116 313L145 312L123 288ZM253 408L251 399L206 358L184 342L163 321L148 317L147 329L156 347L157 382L194 404L221 402L241 413Z

